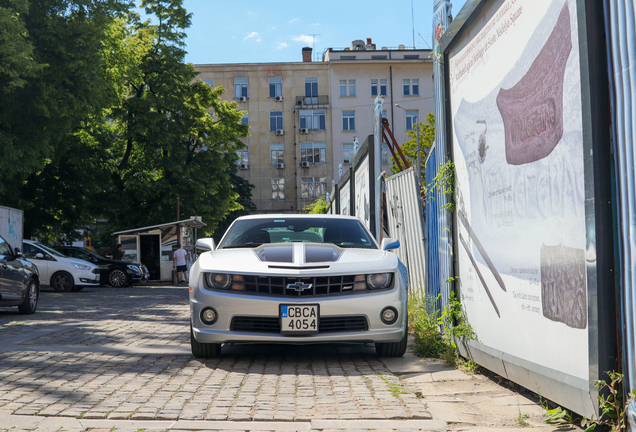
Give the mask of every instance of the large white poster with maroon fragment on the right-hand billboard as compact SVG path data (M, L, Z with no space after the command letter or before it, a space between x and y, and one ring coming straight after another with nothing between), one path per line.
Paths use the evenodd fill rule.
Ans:
M587 380L576 1L474 23L448 56L461 301L481 343Z

